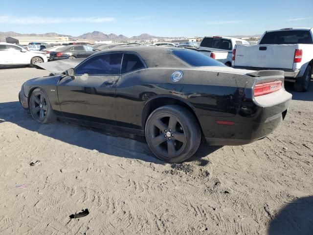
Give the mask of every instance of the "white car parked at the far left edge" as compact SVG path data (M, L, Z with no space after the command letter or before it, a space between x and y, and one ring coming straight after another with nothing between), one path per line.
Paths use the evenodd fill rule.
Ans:
M45 52L28 51L10 43L0 43L0 65L30 65L47 62Z

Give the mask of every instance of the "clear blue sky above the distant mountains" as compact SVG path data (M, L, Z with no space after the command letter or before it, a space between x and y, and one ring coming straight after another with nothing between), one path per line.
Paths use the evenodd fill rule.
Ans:
M254 35L283 27L313 27L313 0L66 0L1 1L0 31L94 30L131 37Z

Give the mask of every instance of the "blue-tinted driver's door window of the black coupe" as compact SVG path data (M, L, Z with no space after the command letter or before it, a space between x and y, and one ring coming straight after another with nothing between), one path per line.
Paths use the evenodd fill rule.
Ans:
M120 74L122 53L98 55L75 68L76 75L115 75Z

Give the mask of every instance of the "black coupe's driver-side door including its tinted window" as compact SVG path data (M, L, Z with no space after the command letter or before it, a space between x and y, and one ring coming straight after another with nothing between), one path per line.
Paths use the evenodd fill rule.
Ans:
M66 118L115 125L115 84L122 53L93 56L75 68L75 76L58 84L60 109Z

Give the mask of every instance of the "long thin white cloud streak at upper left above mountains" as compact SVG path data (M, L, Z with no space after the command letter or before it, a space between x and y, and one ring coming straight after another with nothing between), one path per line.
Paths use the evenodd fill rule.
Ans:
M0 16L0 24L62 24L62 23L103 23L112 22L112 17L87 17L87 18L50 18L40 16Z

